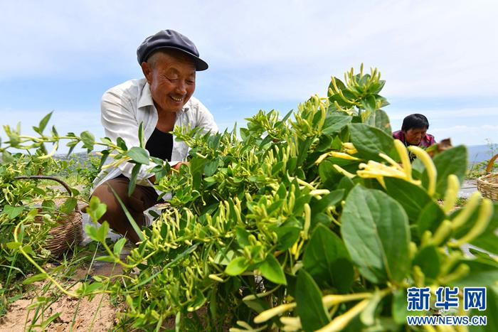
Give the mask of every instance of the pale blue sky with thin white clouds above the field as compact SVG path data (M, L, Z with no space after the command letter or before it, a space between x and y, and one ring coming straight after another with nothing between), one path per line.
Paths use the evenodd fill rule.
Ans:
M422 113L436 140L497 144L497 18L497 0L0 0L0 124L31 133L53 111L60 134L105 136L103 92L142 77L137 46L171 28L209 63L194 96L221 129L297 109L364 63L386 80L393 130Z

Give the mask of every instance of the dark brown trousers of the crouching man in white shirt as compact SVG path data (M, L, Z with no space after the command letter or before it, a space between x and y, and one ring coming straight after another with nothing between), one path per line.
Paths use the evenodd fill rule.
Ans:
M143 227L145 225L146 217L144 215L144 210L147 210L158 203L158 195L152 187L137 185L132 193L132 196L128 196L128 186L129 178L121 175L117 178L105 181L100 186L95 188L92 196L98 197L101 203L105 203L105 205L107 205L107 211L104 215L102 215L99 222L103 223L104 220L106 220L112 230L119 232L132 242L136 243L139 242L140 239L137 233L133 230L132 224L129 223L128 218L124 214L124 210L121 208L120 202L118 202L110 188L114 189L117 196L120 197L122 203L126 206L129 214L132 215L139 227Z

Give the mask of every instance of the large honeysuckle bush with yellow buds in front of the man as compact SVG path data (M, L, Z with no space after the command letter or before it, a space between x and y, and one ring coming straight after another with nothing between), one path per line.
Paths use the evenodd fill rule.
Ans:
M377 70L351 69L344 82L332 77L327 97L282 118L260 111L218 134L176 127L191 147L178 171L143 146L104 139L104 155L149 167L172 197L126 258L124 239L105 244L107 223L88 227L105 245L100 259L124 274L77 293L112 294L127 304L120 324L145 330L418 331L407 326L407 289L477 286L488 289L488 309L467 314L487 314L480 328L495 331L497 205L476 193L455 209L465 146L433 159L407 150L381 109L383 85ZM90 202L92 219L104 211ZM478 248L472 256L466 244Z

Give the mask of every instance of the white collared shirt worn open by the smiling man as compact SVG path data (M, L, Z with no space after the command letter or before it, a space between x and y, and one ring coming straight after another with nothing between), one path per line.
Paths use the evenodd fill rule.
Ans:
M157 109L154 106L149 83L145 78L129 80L107 90L102 96L100 103L101 122L105 129L105 136L113 142L117 137L124 139L127 148L139 146L138 129L141 122L144 123L144 141L152 136L157 125ZM191 97L183 109L176 114L175 126L189 126L194 129L201 127L202 132L218 132L218 126L214 122L213 115L206 106L202 105L196 98ZM173 151L171 152L170 164L183 161L189 153L189 146L183 141L175 141L173 137ZM134 164L124 162L117 167L110 167L100 171L93 181L93 188L111 178L123 174L129 178L132 174ZM149 166L142 165L137 176L137 184L141 186L152 186L148 180L152 173L147 172Z

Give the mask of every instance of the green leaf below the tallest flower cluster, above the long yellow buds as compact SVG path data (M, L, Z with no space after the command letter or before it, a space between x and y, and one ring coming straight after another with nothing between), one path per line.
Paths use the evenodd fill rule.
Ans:
M381 129L368 124L349 124L351 142L358 150L359 156L365 160L383 161L378 154L393 155L393 137Z

